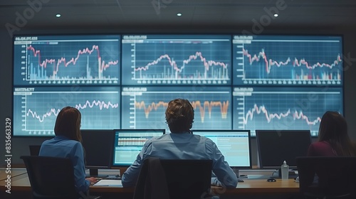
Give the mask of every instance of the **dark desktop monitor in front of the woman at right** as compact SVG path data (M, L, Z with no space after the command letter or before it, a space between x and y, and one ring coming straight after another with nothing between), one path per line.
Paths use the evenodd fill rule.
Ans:
M295 158L307 155L311 136L310 130L256 130L256 141L260 168L280 171L283 161L297 168ZM280 172L273 176L281 177Z

